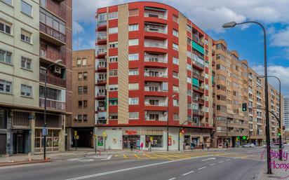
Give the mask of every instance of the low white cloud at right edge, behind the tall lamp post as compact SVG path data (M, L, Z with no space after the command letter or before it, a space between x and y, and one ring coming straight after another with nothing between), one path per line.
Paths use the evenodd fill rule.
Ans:
M264 67L259 65L252 67L257 74L264 75ZM281 93L289 95L289 67L269 66L267 67L268 76L277 76L281 81ZM279 88L279 83L276 78L268 78L268 82L274 86L276 90Z

